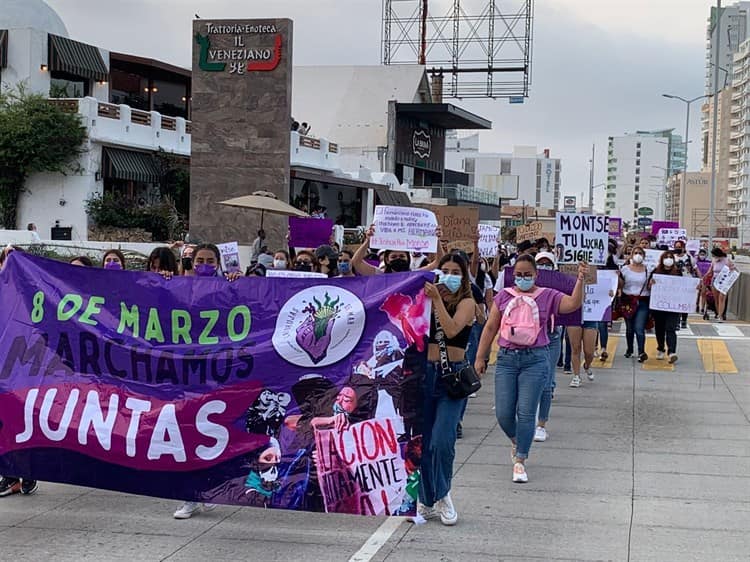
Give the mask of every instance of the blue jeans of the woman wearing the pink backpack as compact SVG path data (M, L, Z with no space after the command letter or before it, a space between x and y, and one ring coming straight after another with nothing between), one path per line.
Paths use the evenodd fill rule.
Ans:
M547 383L549 346L527 349L502 348L495 370L495 415L511 440L516 457L529 456L536 429L536 409Z

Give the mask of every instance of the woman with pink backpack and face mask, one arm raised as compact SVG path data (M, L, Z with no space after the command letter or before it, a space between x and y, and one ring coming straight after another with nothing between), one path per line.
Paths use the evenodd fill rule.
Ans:
M578 267L578 280L568 296L555 289L536 286L534 258L518 256L514 266L515 287L495 297L490 317L482 332L477 360L478 374L487 365L484 357L500 334L495 371L495 414L500 427L511 440L513 482L528 482L526 459L534 438L536 409L549 373L550 317L568 314L583 304L586 264Z

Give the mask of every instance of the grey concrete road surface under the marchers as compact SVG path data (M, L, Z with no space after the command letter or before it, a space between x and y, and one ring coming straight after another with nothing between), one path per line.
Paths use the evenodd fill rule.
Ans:
M680 338L673 371L626 360L624 338L595 382L558 371L525 485L488 377L457 446L454 528L224 506L176 521L173 501L42 483L0 498L0 560L748 560L750 338L722 342L738 372L715 372L707 330Z

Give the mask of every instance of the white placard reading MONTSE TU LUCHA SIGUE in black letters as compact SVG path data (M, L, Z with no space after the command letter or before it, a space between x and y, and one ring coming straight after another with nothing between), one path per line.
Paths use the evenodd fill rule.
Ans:
M609 217L557 213L555 245L561 250L558 263L606 265L608 241Z

